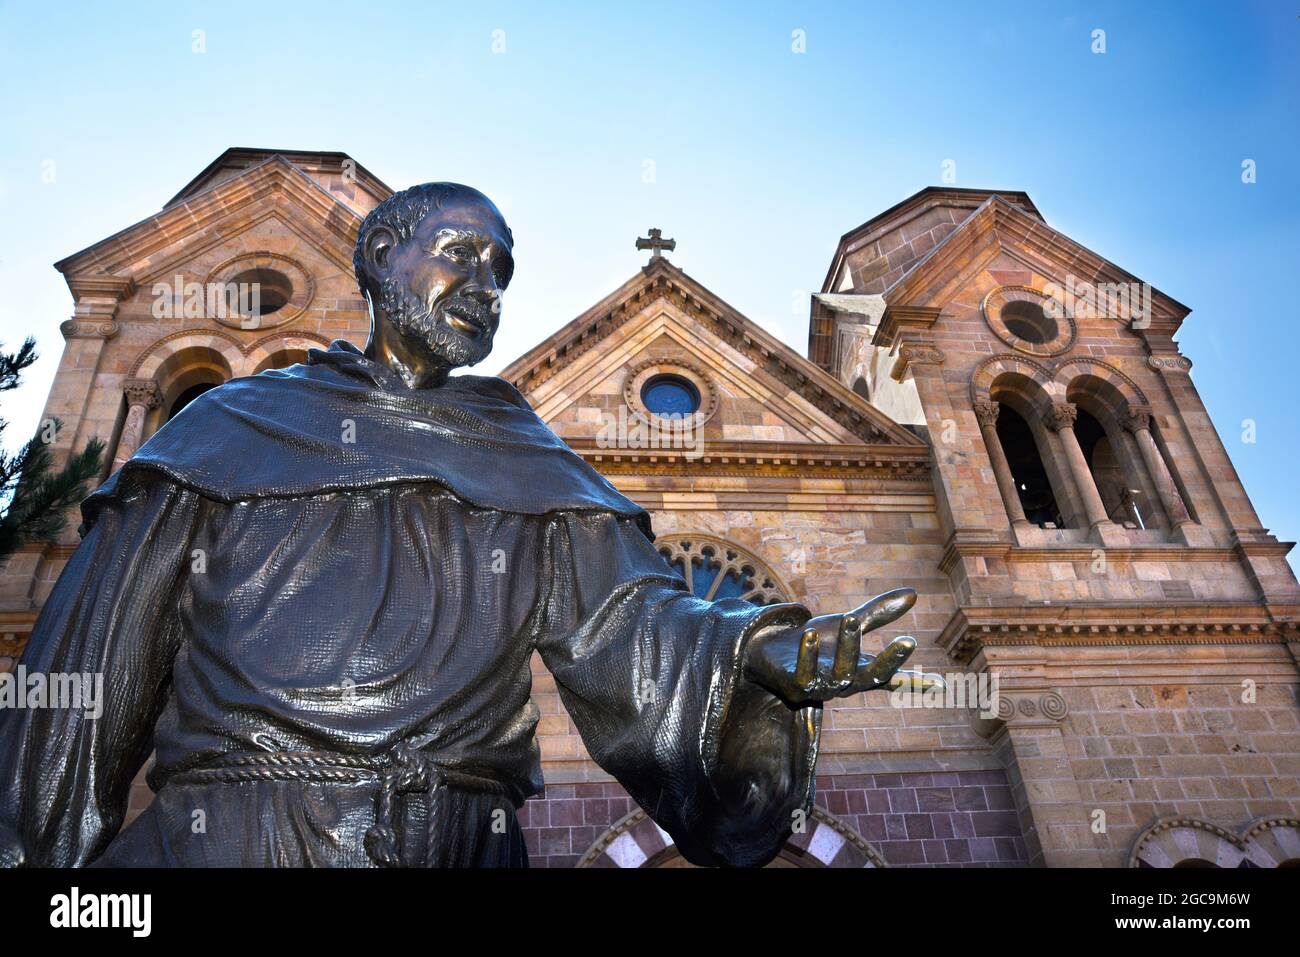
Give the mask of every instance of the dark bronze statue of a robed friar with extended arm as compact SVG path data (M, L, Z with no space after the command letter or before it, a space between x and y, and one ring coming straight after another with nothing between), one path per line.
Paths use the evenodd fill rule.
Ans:
M931 676L846 615L706 602L484 359L514 241L428 183L361 225L365 351L213 389L83 505L22 657L103 714L0 713L8 865L525 866L538 650L592 757L702 865L812 801L822 702ZM121 830L151 749L156 800Z

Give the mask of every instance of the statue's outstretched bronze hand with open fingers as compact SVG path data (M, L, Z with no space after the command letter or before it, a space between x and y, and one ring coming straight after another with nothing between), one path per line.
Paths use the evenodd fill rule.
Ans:
M862 653L862 636L905 615L916 603L910 588L876 596L844 615L809 619L754 637L745 649L745 676L790 705L809 705L876 688L944 687L939 675L900 671L916 640L898 637L878 654Z

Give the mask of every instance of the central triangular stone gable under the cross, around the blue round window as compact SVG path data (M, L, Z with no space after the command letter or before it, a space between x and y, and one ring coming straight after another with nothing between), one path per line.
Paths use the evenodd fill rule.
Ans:
M562 436L584 439L649 363L686 364L716 387L710 423L724 442L927 449L664 259L500 374Z

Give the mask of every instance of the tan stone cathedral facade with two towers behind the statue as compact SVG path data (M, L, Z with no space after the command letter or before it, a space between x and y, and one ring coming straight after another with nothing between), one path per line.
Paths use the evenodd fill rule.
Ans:
M204 389L363 345L352 242L387 195L342 153L229 150L57 263L56 450L99 436L113 468ZM818 809L775 865L1300 862L1300 588L1178 351L1187 313L1023 192L927 189L840 241L806 356L655 250L503 371L697 594L919 593L871 640L915 635L950 693L828 706ZM75 542L0 568L0 667ZM534 866L681 866L540 663L534 700Z

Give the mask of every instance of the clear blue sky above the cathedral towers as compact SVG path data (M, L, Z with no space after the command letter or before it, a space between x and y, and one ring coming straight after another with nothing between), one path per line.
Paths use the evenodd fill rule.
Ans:
M952 160L958 186L1028 191L1052 225L1192 307L1179 341L1196 385L1262 523L1292 541L1297 14L4 3L0 341L30 333L43 352L4 398L9 441L36 424L72 312L51 264L152 215L229 146L339 150L394 187L452 179L494 196L519 268L480 372L632 276L650 225L677 239L679 265L802 352L838 237Z

